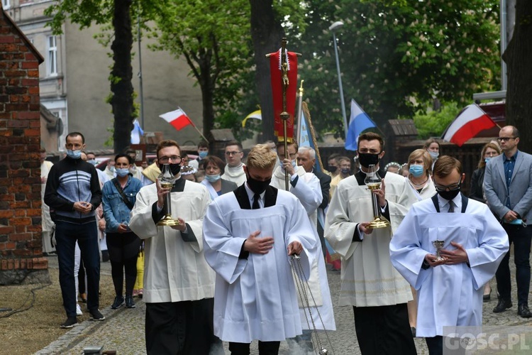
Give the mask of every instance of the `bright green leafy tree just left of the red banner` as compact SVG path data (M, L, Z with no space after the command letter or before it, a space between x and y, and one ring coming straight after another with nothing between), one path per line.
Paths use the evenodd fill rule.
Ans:
M183 56L201 88L203 131L232 128L239 138L240 121L253 110L250 77L253 50L248 1L162 1L157 5L156 50Z

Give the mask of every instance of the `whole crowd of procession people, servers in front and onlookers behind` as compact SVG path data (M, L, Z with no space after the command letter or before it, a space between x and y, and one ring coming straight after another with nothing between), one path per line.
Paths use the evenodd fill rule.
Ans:
M148 354L223 354L221 342L250 354L254 340L260 354L277 354L285 339L319 351L318 335L336 330L326 261L341 270L339 305L353 307L362 354L416 354L414 337L443 354L444 327L482 325L494 276L493 312L512 307L511 243L517 313L532 317L532 156L518 144L519 131L505 126L482 148L466 197L462 164L433 139L406 163L381 166L383 138L362 133L355 158L333 154L326 171L295 142L257 144L245 157L229 141L224 162L206 142L190 160L166 140L153 163L136 166L126 151L101 171L82 133L69 133L59 163L41 151L43 251L59 260L61 327L77 324L77 270L92 320L105 319L104 240L116 292L104 306L135 307L143 296ZM172 187L158 180L162 170ZM368 190L368 175L378 188ZM169 210L177 223L157 226ZM382 228L371 223L376 212Z

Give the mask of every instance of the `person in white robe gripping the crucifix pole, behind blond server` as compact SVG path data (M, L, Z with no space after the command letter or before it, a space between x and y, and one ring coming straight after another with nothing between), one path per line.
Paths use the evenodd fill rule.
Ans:
M314 302L311 304L313 307L309 308L304 307L306 302L299 300L301 323L304 332L302 336L298 336L295 339L301 348L312 351L311 330L314 327L321 330L336 330L336 324L334 322L333 302L327 280L325 258L323 258L323 250L321 249L321 242L319 241L317 232L318 207L323 201L321 183L314 173L307 173L303 166L296 165L298 152L299 149L295 142L287 144L287 154L284 153L284 142L277 143L279 166L274 170L270 185L279 190L286 190L284 180L284 171L286 170L290 179L289 192L292 192L299 202L303 204L306 214L309 216L309 221L314 226L314 237L318 242L319 255L312 264L311 276L308 283L310 289L307 291L309 295L311 294L314 297ZM314 321L314 327L312 321ZM289 342L289 344L292 345L293 343Z

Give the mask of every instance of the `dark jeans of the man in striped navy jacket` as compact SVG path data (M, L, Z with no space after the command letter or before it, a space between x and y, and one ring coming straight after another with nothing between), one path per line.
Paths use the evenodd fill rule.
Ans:
M76 241L82 251L87 273L87 309L99 307L100 253L96 220L87 224L55 222L59 283L67 317L76 317L76 285L74 280L74 248Z

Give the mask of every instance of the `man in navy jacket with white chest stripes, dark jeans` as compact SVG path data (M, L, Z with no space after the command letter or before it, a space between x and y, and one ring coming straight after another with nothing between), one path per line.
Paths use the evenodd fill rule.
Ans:
M87 309L92 320L105 320L98 310L100 260L94 212L101 204L101 190L96 168L81 159L85 148L82 133L69 133L65 148L67 156L50 169L44 200L50 206L50 215L55 222L59 283L67 312L67 320L61 328L72 328L77 325L74 283L76 241L87 271Z

